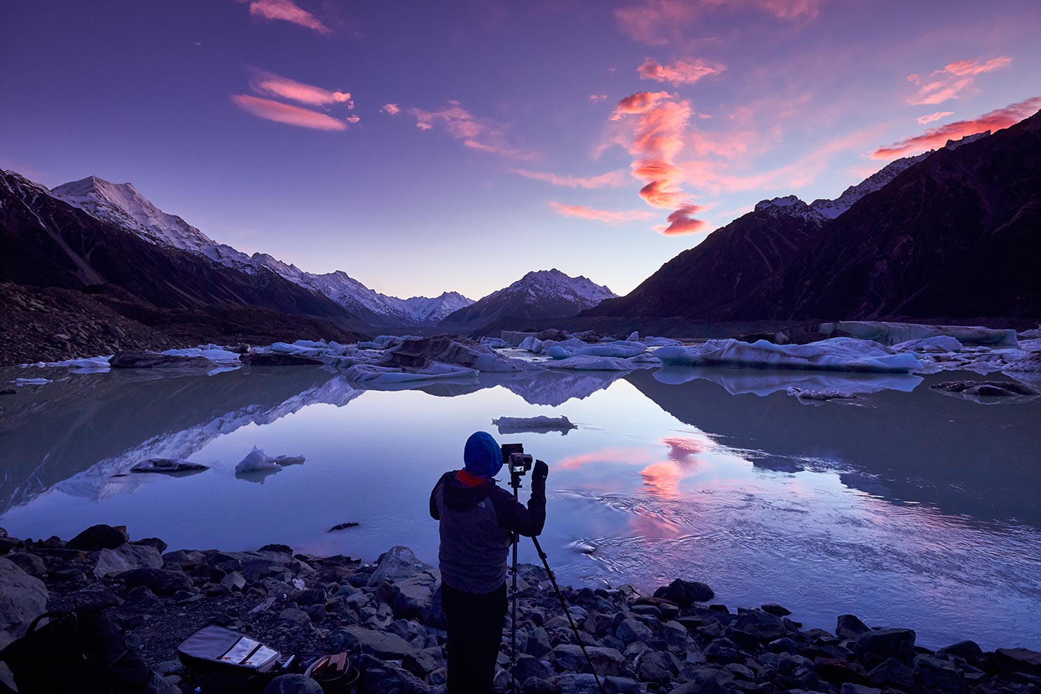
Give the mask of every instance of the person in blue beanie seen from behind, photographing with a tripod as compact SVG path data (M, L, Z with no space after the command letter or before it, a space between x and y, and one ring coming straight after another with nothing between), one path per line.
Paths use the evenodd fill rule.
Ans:
M466 439L465 466L441 475L430 493L440 521L441 603L448 618L450 694L492 691L506 617L506 559L512 533L529 537L545 523L545 463L535 464L527 508L496 485L503 452L486 432Z

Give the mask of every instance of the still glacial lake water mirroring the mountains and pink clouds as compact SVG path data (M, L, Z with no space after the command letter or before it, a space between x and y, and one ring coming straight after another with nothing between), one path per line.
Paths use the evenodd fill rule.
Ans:
M399 390L321 367L0 376L55 380L0 397L0 526L16 537L105 522L171 549L282 542L373 561L404 544L436 564L430 488L486 430L550 465L542 543L562 583L683 577L731 609L780 602L807 628L852 613L930 647L1041 649L1041 402L929 388L974 374L539 371ZM785 392L843 382L877 391ZM579 428L491 423L540 414ZM236 477L254 445L306 462ZM155 456L212 467L125 474ZM360 524L327 532L346 521ZM527 540L520 554L538 561Z

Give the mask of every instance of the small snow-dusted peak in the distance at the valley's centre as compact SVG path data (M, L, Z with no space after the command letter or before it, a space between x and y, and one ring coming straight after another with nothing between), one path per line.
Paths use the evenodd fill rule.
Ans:
M565 318L615 295L588 278L543 269L528 273L508 287L455 311L440 325L478 328L501 318Z

